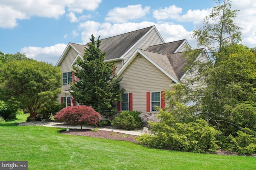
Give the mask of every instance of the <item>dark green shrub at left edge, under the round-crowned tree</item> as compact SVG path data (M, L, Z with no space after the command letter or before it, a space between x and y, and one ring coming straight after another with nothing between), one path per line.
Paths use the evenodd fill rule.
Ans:
M10 103L0 100L0 117L9 121L16 118L18 108Z

